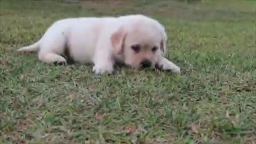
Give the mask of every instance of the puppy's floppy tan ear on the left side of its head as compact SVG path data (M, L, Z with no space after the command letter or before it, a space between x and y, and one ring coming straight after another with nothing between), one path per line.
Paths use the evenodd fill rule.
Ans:
M125 36L126 32L124 27L119 28L113 35L111 35L111 44L116 54L121 54L123 52Z

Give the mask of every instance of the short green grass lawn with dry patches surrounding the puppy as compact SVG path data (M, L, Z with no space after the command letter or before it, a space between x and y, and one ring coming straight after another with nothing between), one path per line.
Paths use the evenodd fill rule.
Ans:
M143 13L181 75L15 52L53 21ZM256 143L255 1L0 1L0 143Z

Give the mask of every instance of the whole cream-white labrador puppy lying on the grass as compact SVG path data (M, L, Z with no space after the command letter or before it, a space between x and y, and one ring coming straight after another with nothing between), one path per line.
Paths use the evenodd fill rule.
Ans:
M116 62L180 73L163 57L166 39L164 27L145 15L68 18L54 22L38 42L18 51L38 51L46 63L67 63L65 56L81 64L92 62L95 74L113 73Z

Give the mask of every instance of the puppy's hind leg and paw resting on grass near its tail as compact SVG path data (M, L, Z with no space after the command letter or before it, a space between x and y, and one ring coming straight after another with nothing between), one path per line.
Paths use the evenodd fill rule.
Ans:
M38 53L39 60L45 63L57 63L59 65L66 65L67 61L61 55L51 53L51 52L39 52Z

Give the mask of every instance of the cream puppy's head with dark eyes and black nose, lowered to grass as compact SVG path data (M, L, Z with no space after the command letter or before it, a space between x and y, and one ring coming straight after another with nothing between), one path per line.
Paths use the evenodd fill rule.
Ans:
M147 17L129 22L111 36L115 55L134 68L154 67L165 52L164 27Z

